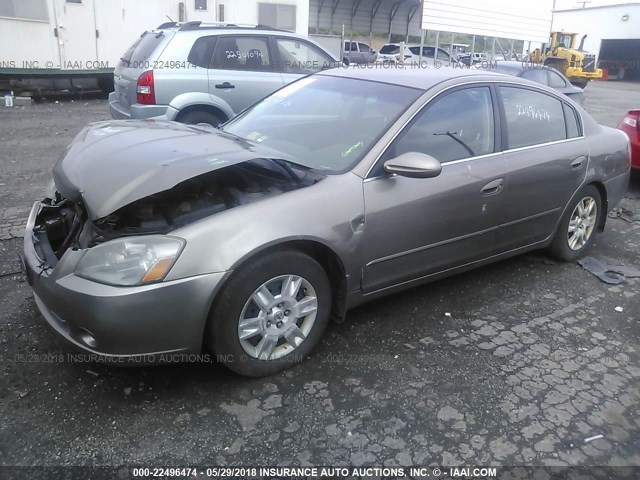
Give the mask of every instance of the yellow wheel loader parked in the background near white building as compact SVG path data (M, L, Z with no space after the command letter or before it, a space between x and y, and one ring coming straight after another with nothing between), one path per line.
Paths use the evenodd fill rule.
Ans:
M571 83L585 88L589 80L602 78L602 70L596 68L596 56L582 49L587 36L582 36L576 48L577 38L577 33L551 32L549 44L531 52L530 60L559 70Z

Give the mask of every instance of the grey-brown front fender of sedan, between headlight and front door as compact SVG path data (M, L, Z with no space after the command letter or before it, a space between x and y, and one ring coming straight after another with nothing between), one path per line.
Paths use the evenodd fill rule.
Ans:
M329 175L318 183L235 207L172 232L186 240L167 280L238 268L265 248L307 240L332 250L359 278L364 216L362 179Z

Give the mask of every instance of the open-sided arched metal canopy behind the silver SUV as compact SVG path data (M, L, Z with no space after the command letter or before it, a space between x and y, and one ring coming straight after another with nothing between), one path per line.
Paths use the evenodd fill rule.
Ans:
M409 23L408 34L420 36L419 0L310 0L309 31L315 33L318 28L339 34L344 25L347 33L389 34L393 11L395 16L391 21L391 33L406 35L407 18L411 10L415 13Z

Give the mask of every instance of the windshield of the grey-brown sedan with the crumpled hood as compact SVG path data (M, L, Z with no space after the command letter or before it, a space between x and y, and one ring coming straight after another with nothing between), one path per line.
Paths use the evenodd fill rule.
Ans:
M342 173L358 163L422 93L366 80L319 75L265 98L223 130L281 158Z

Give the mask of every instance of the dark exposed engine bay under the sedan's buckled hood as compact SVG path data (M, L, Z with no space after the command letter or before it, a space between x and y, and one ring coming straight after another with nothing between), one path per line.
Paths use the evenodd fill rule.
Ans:
M54 262L68 248L89 248L127 235L168 233L197 220L306 187L322 175L283 160L256 159L190 178L91 222L84 206L61 198L42 202L34 234L41 253Z

